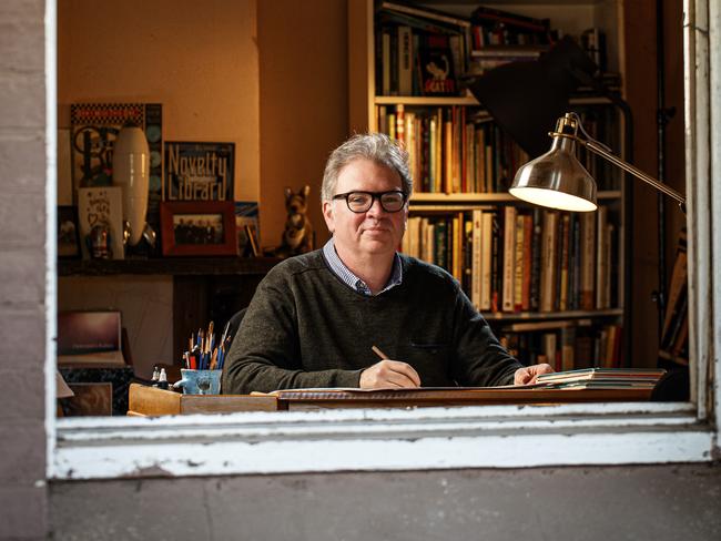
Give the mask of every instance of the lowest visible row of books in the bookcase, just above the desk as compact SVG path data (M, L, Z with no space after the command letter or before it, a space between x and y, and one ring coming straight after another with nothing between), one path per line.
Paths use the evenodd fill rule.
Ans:
M544 329L544 326L551 327ZM554 370L623 366L623 328L590 319L517 324L498 333L501 345L524 365L547 363ZM554 328L555 327L555 328Z

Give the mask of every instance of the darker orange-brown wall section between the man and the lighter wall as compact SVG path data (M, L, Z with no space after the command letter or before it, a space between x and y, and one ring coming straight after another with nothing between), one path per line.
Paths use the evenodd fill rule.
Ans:
M316 246L328 238L321 181L348 132L346 2L273 0L257 6L261 81L261 231L281 241L283 186L311 185Z

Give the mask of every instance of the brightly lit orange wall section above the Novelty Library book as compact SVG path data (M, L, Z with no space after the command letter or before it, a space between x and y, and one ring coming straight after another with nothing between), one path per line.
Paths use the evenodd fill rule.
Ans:
M255 0L59 0L61 126L81 101L161 102L165 140L234 142L236 198L258 198Z

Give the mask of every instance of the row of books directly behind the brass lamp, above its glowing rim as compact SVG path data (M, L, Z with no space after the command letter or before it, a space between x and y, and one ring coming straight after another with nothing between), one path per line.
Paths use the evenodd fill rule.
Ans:
M615 137L615 116L603 108L580 111L592 136ZM379 132L402 141L408 151L415 190L424 193L502 193L530 156L479 108L377 105ZM619 185L617 171L579 149L578 157L598 180L599 190Z

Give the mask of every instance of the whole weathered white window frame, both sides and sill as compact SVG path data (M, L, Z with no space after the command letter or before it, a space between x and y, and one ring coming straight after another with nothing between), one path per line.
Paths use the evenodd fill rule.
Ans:
M45 2L50 479L704 462L719 458L721 7L684 2L691 402L55 420L55 6ZM694 70L688 67L695 67ZM708 114L710 111L711 114ZM693 152L690 152L692 149Z

